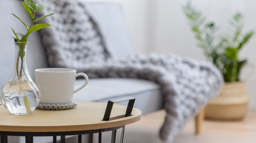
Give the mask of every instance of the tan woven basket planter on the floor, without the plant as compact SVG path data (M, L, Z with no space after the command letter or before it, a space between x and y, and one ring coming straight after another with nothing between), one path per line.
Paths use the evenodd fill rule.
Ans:
M225 83L220 95L205 107L206 119L237 120L247 113L249 97L244 82Z

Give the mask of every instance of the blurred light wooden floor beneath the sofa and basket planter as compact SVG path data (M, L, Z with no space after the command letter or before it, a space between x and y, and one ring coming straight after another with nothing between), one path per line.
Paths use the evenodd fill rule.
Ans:
M158 137L165 117L163 110L142 116L139 122L126 125L125 143L163 143ZM256 111L240 121L205 120L203 132L194 134L194 119L176 136L173 143L256 143Z

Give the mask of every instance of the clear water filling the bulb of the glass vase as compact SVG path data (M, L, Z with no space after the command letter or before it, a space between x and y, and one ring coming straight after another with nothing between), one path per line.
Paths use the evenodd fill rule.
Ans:
M28 115L35 109L38 101L37 87L32 82L7 82L1 90L1 101L12 115ZM40 96L39 96L40 97Z

